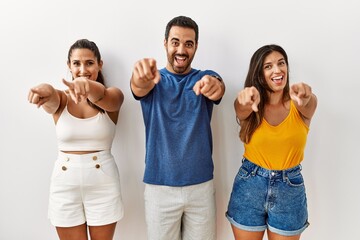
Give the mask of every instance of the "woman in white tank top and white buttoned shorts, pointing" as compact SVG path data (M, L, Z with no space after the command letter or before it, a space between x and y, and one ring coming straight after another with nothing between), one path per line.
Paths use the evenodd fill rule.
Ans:
M30 103L52 114L59 154L50 184L49 218L59 238L110 240L123 217L119 172L111 145L124 96L105 87L94 42L76 41L67 65L66 90L43 83L30 89Z

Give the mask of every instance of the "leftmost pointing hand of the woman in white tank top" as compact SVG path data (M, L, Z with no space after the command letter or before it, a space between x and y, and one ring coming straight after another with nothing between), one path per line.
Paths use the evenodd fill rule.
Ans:
M42 106L47 113L55 114L60 107L61 91L42 83L30 89L28 100L38 108Z

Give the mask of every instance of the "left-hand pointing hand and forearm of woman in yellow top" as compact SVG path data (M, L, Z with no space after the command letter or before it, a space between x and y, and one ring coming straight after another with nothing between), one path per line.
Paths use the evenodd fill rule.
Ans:
M247 87L238 93L234 102L236 117L245 120L253 111L258 111L260 94L255 87Z

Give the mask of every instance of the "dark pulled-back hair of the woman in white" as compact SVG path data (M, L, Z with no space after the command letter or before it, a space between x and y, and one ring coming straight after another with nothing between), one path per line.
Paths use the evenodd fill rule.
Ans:
M68 64L70 64L71 54L72 54L72 51L74 49L89 49L90 51L92 51L94 53L98 64L101 63L101 54L100 54L100 51L99 51L99 48L97 47L97 45L94 42L89 41L88 39L79 39L73 45L71 45L71 47L69 49L69 52L68 52ZM101 70L98 73L98 77L97 77L96 81L105 86L104 75L102 74ZM102 112L102 113L105 112L104 109L96 106L95 104L90 102L89 99L87 99L87 103L91 107L98 109L100 112Z

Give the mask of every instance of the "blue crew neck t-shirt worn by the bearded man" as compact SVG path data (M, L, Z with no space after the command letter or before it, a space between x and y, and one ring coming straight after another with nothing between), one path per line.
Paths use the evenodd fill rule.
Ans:
M146 129L144 182L189 186L213 179L211 115L213 102L193 87L211 70L174 74L163 68L161 80L140 99ZM220 77L220 76L219 76Z

